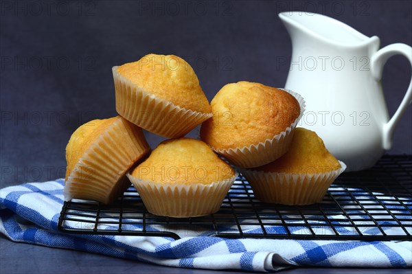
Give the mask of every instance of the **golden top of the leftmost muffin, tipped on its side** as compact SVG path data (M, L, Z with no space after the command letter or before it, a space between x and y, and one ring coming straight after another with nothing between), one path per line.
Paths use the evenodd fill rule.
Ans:
M66 180L87 148L89 148L89 146L93 144L93 141L95 141L108 126L113 124L116 119L122 118L116 116L109 119L92 120L86 124L82 124L82 126L76 129L71 135L69 143L67 143L66 146Z

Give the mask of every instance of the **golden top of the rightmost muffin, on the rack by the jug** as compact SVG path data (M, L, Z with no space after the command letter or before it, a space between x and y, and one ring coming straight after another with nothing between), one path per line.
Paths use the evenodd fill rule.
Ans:
M341 164L325 148L322 139L312 130L295 128L292 144L285 155L255 170L314 174L339 170Z

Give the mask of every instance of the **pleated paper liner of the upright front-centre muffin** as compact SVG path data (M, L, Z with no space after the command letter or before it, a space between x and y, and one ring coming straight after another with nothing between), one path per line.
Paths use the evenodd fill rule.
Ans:
M205 216L217 212L238 174L203 184L156 183L127 174L148 212L174 218Z

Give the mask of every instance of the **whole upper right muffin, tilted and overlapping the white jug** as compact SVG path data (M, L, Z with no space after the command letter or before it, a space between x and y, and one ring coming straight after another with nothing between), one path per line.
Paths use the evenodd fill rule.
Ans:
M297 93L255 82L226 84L211 100L213 117L201 139L241 168L254 168L284 155L302 113Z

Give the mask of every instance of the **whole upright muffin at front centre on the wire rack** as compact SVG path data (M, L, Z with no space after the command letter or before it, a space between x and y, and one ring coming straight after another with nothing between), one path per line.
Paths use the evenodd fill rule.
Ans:
M163 141L128 178L148 212L177 218L217 212L236 172L203 141Z

